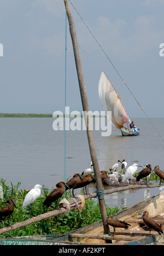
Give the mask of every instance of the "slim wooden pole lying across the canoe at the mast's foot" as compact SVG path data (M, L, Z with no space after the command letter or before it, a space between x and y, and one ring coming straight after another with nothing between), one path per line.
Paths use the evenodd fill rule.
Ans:
M69 234L69 237L98 239L98 240L115 240L115 241L136 240L136 237L131 237L131 236L109 236L109 235L90 235L90 234Z

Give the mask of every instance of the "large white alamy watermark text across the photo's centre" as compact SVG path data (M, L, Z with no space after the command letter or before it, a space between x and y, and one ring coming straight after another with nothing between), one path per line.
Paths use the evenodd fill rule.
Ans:
M100 113L97 110L94 112L83 111L81 114L79 111L70 113L69 107L66 107L65 114L61 111L55 111L53 117L55 118L52 124L54 131L86 131L88 127L92 131L102 131L102 136L110 136L112 133L112 124L109 121L112 119L112 112L110 111L101 111Z

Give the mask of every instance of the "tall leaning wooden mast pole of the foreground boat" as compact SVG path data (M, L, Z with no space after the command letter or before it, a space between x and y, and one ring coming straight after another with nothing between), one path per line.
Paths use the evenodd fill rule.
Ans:
M66 0L65 7L66 7ZM89 115L89 104L87 101L87 94L86 94L86 88L85 88L85 81L84 81L84 75L83 75L83 68L81 64L81 57L78 47L78 40L77 40L77 34L75 32L75 26L74 26L74 20L71 12L71 8L69 5L69 1L67 0L67 18L69 22L69 31L71 33L72 38L72 44L73 44L73 51L74 51L74 57L75 57L75 64L77 67L77 74L78 74L78 80L79 80L79 89L80 89L80 95L81 95L81 101L83 104L83 111L85 115L85 121L87 126L87 139L89 142L89 148L90 148L90 155L91 160L93 164L93 169L96 176L96 185L97 185L97 191L103 191L103 185L102 185L102 179L101 179L101 173L99 171L97 156L96 156L96 150L95 150L95 143L93 141L93 133L90 129L91 121L90 121L90 115ZM99 196L99 208L101 211L102 216L102 222L104 223L107 219L107 211L106 211L106 203L103 199L104 195ZM104 225L104 234L108 234L110 232L108 224ZM112 243L111 240L107 241L108 243Z

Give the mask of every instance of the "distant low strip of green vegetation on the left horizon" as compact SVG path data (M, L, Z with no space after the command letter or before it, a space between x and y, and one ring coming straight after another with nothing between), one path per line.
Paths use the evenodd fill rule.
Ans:
M52 114L0 113L0 118L52 118Z

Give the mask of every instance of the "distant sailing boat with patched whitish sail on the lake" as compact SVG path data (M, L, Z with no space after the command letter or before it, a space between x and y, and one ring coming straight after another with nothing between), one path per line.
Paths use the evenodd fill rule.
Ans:
M102 107L106 112L106 117L109 116L107 115L107 111L111 111L112 120L109 121L121 131L122 136L139 135L139 129L137 129L138 131L130 129L129 124L131 124L131 120L126 113L121 97L104 72L102 72L99 80L98 95ZM125 123L127 124L127 128L124 127Z

